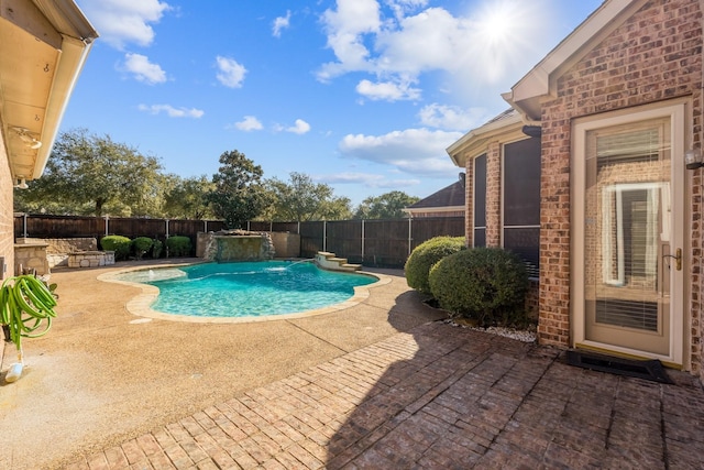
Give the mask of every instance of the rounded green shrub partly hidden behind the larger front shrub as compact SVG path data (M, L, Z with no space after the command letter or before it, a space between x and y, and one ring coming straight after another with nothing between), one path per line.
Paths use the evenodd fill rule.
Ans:
M428 274L430 269L444 256L464 250L464 237L436 237L420 243L406 261L408 286L424 294L430 294Z

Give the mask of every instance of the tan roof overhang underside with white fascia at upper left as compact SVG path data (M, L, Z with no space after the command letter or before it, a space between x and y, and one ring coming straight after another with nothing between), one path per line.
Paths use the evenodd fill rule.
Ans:
M0 123L13 178L38 178L98 36L73 0L0 0Z

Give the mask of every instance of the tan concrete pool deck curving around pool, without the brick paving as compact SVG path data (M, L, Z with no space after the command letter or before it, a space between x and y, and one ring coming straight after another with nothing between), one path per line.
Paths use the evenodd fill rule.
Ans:
M127 309L139 287L97 280L158 264L54 271L57 318L46 336L23 341L22 378L0 381L0 468L62 468L72 457L442 317L418 302L399 271L388 271L388 282L352 309L234 324L139 317ZM3 374L15 361L6 342Z

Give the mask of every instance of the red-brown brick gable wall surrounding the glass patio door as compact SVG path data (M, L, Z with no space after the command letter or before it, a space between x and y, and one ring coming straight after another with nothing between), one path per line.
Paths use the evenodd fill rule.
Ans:
M540 324L543 345L570 345L570 153L572 120L606 111L691 99L693 146L702 132L702 12L691 0L653 0L645 4L558 79L557 99L542 103L542 174L540 236ZM681 155L672 155L680 159ZM701 184L692 178L688 195L692 253L691 367L702 372L700 324ZM685 250L688 252L688 250Z

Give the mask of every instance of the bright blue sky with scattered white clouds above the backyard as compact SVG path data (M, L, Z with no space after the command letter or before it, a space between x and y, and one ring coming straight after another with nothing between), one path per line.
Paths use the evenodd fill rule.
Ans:
M87 129L182 177L239 151L353 206L420 198L446 149L601 0L76 0L100 37L61 131Z

